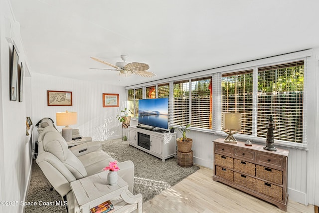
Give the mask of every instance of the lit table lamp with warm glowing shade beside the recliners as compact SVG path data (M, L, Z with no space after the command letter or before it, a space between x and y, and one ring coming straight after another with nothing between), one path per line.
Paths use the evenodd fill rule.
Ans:
M69 125L76 124L77 113L76 112L57 112L56 115L56 125L65 126L62 128L62 137L66 142L72 141L72 128Z

